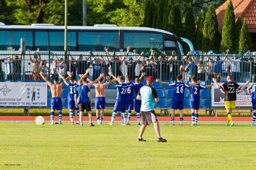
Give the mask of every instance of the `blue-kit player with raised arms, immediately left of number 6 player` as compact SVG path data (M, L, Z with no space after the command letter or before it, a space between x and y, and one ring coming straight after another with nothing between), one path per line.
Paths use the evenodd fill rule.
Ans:
M113 82L112 80L110 80L110 78L107 76L106 79L108 81L110 81L111 84L113 84L114 86L117 87L117 97L116 97L116 103L114 105L114 110L112 113L112 117L111 117L111 122L108 123L108 125L114 125L114 120L116 118L116 112L122 112L123 113L123 117L124 117L124 124L122 125L127 125L127 114L126 114L126 94L125 94L125 90L127 85L124 83L124 78L122 76L118 76L118 78L116 78L114 76L114 74L112 72L108 73L110 76L112 76L118 83Z

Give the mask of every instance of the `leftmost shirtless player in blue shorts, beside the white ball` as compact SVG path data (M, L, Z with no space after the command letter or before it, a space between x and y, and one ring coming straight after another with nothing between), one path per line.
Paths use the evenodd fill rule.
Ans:
M51 82L49 82L49 80L47 80L44 75L43 72L40 71L40 76L46 81L46 83L48 84L48 86L50 86L51 88L51 93L52 93L52 100L51 100L51 125L53 124L62 124L62 101L60 98L60 94L61 94L61 90L62 87L64 86L64 82L59 84L59 79L58 77L54 78L54 84L52 84ZM54 123L54 111L58 110L59 112L59 120L60 123L55 122Z

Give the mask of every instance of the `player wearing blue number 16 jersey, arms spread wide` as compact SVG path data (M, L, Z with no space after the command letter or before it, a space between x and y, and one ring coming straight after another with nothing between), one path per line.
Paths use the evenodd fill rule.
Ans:
M166 84L173 87L173 101L172 101L172 124L170 126L174 126L174 117L175 117L175 110L180 110L180 126L182 126L183 121L183 113L182 110L184 109L184 90L185 88L196 86L197 84L200 84L201 81L199 80L195 84L186 84L182 82L182 76L177 76L177 82L162 82L159 79L156 79L156 82L159 82L161 84Z

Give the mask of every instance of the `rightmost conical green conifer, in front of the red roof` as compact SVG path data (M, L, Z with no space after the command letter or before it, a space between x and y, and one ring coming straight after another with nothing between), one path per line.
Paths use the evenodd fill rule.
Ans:
M244 18L244 23L242 25L239 41L239 51L248 51L252 49L252 39L250 37L246 19Z

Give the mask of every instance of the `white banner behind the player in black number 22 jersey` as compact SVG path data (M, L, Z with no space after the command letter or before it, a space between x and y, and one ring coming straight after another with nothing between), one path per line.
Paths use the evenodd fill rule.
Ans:
M218 83L222 85L223 83ZM240 86L244 86L246 83L238 83ZM248 84L249 87L252 83ZM225 106L225 92L220 88L218 89L216 85L212 86L212 106ZM252 107L252 98L247 92L247 88L244 90L236 90L236 106L242 107Z

